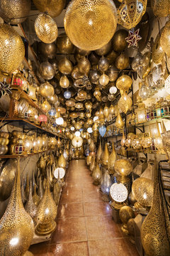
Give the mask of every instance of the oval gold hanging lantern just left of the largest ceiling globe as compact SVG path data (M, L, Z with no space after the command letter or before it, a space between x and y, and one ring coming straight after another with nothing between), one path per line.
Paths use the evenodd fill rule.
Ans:
M58 36L57 24L47 14L39 14L35 19L35 32L44 43L53 43Z

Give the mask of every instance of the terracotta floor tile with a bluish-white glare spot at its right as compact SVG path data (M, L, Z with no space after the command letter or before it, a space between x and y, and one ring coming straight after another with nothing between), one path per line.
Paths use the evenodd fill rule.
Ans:
M86 202L84 203L84 213L86 216L112 215L112 209L109 203L103 201Z

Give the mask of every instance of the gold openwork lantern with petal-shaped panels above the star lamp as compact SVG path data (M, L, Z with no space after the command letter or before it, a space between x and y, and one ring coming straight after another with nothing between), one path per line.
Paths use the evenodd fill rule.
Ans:
M118 9L118 23L124 28L135 28L145 14L147 0L123 0Z

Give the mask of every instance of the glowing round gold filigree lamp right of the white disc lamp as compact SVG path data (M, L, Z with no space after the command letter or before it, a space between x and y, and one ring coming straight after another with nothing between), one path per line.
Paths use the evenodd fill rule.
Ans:
M152 206L154 182L149 178L137 178L132 183L132 193L137 201L135 208L145 213L146 208Z

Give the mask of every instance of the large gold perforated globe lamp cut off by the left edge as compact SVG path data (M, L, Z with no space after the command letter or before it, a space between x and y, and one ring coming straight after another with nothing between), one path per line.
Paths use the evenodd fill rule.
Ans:
M23 61L24 55L21 36L8 24L0 24L0 70L13 73Z

